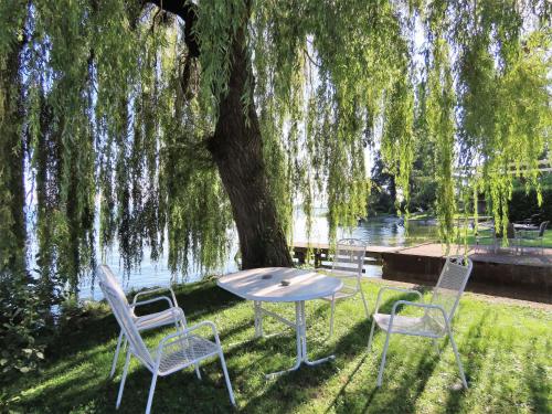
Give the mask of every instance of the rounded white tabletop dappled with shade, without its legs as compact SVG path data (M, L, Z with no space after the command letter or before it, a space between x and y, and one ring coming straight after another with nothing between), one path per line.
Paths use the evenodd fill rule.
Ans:
M248 300L300 301L331 296L343 283L314 270L261 267L223 276L217 285Z

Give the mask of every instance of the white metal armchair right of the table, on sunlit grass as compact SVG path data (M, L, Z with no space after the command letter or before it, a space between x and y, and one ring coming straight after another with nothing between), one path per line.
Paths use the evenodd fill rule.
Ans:
M433 296L429 304L413 302L408 300L397 300L393 304L391 315L379 314L380 300L385 290L395 290L403 293L416 294L422 299L422 294L417 290L402 289L397 287L383 287L378 294L375 302L375 311L372 316L372 328L370 330L370 338L368 340L368 349L372 344L374 335L374 327L378 325L380 329L386 332L385 344L383 347L383 354L378 373L378 386L381 386L383 369L385 368L385 357L388 354L388 347L391 333L401 333L416 337L432 338L434 342L443 337L448 336L453 351L458 363L461 382L465 389L468 388L464 369L461 367L460 357L454 341L453 330L450 323L453 321L456 308L460 300L461 294L468 283L469 275L474 264L471 259L464 256L450 256L447 258L443 270L440 272L437 285L433 289ZM413 306L424 309L422 317L410 317L397 315L399 307Z

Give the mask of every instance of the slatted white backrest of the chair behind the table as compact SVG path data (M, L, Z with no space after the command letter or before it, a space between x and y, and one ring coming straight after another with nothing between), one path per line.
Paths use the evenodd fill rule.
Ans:
M343 282L343 288L357 291L364 266L367 244L358 238L341 238L336 246L331 275Z

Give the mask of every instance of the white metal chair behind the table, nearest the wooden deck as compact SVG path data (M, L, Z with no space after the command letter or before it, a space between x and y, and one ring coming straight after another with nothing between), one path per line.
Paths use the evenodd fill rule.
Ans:
M343 287L332 296L322 298L331 302L330 338L333 335L333 315L336 312L337 300L347 299L360 293L362 302L364 304L367 318L370 317L367 299L364 298L364 293L362 291L360 283L365 252L367 244L358 238L342 238L337 243L330 276L340 278L343 283Z

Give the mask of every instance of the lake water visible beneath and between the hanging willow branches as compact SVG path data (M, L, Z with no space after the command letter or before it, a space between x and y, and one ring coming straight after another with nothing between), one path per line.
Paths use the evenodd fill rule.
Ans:
M315 211L312 217L312 229L310 241L312 243L327 243L328 242L328 222L326 220L326 210L318 209ZM338 230L338 238L354 237L367 242L369 245L378 246L408 246L437 238L437 229L433 222L412 221L408 224L408 233L402 224L402 220L394 216L384 217L369 217L359 222L359 225L351 231ZM235 237L237 238L237 237ZM298 211L294 217L294 241L306 242L306 217ZM229 256L229 261L223 268L217 269L217 274L226 274L237 270L237 264L234 261L235 253L237 252L237 242ZM121 263L117 254L117 250L106 257L106 263L112 269L123 275ZM367 276L381 277L381 266L367 266ZM193 264L189 268L189 275L185 280L177 278L177 282L197 282L203 276L201 269L194 268ZM148 253L145 252L144 261L139 270L132 270L128 277L121 280L125 290L140 289L153 286L169 286L174 282L173 276L167 268L167 257L162 257L158 263L149 261ZM97 286L92 285L92 280L83 280L81 284L81 298L82 299L100 299L102 291Z

